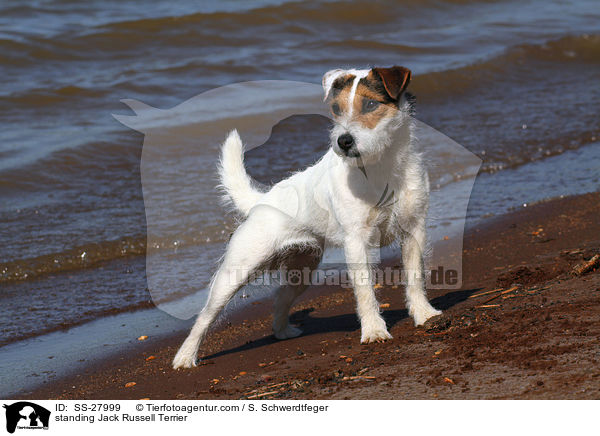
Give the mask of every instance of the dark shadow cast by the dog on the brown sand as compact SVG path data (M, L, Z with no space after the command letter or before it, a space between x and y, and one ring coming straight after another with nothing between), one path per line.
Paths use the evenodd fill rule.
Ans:
M464 289L447 294L431 300L433 307L436 307L442 311L448 310L452 306L465 301L469 296L475 292L480 291L483 288L475 289ZM328 332L356 332L360 331L360 323L355 313L345 313L342 315L334 315L327 317L315 318L311 314L314 311L313 308L303 309L296 311L290 315L290 323L300 325L302 329L302 337L316 335L319 333ZM406 309L400 310L386 310L383 312L383 317L386 321L388 328L392 328L397 323L408 318L408 311ZM230 348L228 350L219 351L208 356L202 357L202 360L216 359L217 357L226 356L228 354L239 353L242 351L253 350L256 348L264 347L270 344L281 342L273 335L265 336L263 338L249 341L244 345Z

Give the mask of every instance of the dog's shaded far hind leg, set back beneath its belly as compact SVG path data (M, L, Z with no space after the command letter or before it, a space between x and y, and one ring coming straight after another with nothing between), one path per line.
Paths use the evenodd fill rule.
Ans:
M319 265L321 253L299 253L285 263L286 283L277 290L273 305L273 334L277 339L295 338L302 330L290 325L289 313L294 300L310 286L312 271Z

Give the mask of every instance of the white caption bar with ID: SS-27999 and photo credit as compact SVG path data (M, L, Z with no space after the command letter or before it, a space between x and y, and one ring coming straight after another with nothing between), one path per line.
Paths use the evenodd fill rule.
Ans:
M592 401L2 400L0 434L591 434ZM42 433L35 430L43 430ZM5 432L6 431L6 432ZM133 433L135 432L135 433ZM331 433L334 434L334 433Z

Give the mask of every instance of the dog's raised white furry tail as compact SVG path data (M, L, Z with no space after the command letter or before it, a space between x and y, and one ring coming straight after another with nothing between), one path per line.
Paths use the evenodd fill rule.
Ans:
M247 216L263 193L252 185L252 179L246 172L244 146L235 129L229 133L221 147L218 171L221 187L226 192L225 199Z

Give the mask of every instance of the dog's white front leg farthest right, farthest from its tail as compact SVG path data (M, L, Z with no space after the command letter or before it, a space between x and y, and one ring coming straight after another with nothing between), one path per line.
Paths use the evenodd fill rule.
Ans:
M420 219L411 231L405 234L402 244L402 263L407 278L406 302L408 313L413 317L415 325L422 325L432 316L442 313L429 303L425 293L424 248L425 220Z

